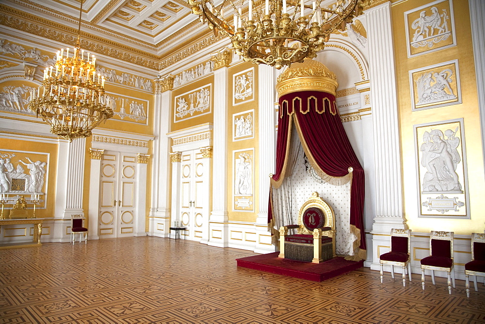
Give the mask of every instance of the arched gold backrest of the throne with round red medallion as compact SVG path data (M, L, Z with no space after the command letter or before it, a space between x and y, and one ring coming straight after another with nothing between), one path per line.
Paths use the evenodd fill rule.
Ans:
M330 227L335 230L335 214L317 192L313 192L298 212L299 234L311 234L315 228ZM330 231L323 232L325 236L332 236Z

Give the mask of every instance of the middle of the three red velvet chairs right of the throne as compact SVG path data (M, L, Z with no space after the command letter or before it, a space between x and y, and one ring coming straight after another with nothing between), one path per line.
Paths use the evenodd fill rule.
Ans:
M448 292L452 293L452 281L454 284L453 269L453 234L454 232L431 231L429 237L430 256L421 259L421 285L424 290L424 270L431 270L431 279L435 284L435 270L446 271L448 275Z

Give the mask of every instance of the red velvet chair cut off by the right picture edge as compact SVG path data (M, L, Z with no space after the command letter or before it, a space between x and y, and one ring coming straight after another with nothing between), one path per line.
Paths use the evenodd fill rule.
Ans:
M473 275L475 292L477 288L477 275L485 277L485 234L471 233L471 261L465 264L465 275L467 277L467 297L470 296L470 279Z

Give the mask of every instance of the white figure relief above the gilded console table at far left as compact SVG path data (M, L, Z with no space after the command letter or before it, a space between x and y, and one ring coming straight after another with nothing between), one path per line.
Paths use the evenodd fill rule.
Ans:
M14 196L44 194L43 188L48 171L47 162L40 160L34 162L28 156L18 158L17 154L7 150L0 151L0 193ZM12 162L13 158L16 159L16 167Z

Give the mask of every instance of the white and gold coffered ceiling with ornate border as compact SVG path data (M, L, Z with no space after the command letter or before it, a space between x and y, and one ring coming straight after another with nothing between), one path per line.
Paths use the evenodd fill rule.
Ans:
M80 0L1 0L2 24L17 28L12 17L75 33ZM20 23L17 23L20 26ZM20 29L20 27L18 27ZM62 32L62 31L59 31ZM185 0L84 0L81 35L142 51L153 58L208 32Z

